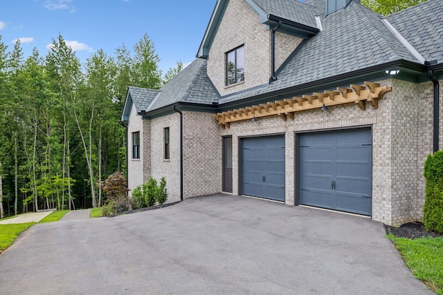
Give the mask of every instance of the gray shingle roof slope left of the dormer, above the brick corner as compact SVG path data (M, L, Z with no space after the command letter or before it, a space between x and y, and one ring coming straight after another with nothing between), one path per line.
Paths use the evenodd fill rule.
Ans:
M160 89L161 93L150 104L147 111L154 111L177 102L194 104L218 102L220 95L208 78L206 64L206 59L197 58L192 61L192 64Z

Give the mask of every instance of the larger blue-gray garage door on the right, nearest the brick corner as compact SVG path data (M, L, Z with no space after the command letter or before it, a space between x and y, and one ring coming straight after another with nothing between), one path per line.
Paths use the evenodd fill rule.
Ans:
M371 129L300 135L300 204L371 215Z

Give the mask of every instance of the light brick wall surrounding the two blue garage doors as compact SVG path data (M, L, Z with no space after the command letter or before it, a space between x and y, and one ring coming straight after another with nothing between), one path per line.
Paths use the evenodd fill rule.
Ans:
M294 202L294 137L300 131L372 126L372 219L388 225L419 220L424 200L423 162L429 150L428 137L432 97L429 85L384 80L393 87L379 100L379 108L369 104L365 111L355 104L329 107L328 111L302 111L284 122L279 117L257 122L237 122L220 134L233 136L233 194L239 193L237 160L241 137L283 133L286 142L286 204ZM419 95L419 93L422 93ZM432 125L431 125L432 126ZM429 133L431 132L431 133ZM432 141L431 141L432 144ZM432 149L432 145L431 145Z

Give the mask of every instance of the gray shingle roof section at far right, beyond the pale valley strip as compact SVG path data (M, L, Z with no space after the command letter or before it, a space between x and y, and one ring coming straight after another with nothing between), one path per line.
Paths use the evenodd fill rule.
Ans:
M443 1L425 1L386 17L426 59L443 62Z

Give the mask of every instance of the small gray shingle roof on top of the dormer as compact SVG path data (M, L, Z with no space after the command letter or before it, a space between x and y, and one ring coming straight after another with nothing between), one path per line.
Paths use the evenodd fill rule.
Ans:
M268 15L317 28L315 17L319 14L319 10L315 6L306 5L298 0L254 0L254 2Z

